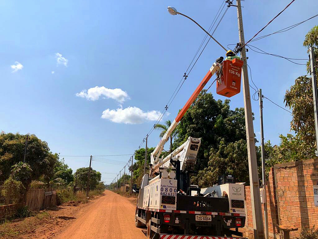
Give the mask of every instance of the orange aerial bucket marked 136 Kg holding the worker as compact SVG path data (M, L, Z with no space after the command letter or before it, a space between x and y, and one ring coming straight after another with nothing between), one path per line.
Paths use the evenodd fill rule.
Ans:
M225 60L220 81L217 81L217 94L232 97L241 91L241 73L243 61Z

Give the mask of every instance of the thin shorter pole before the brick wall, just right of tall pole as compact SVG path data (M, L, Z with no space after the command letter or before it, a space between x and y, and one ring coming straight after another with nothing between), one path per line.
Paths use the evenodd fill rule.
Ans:
M262 153L262 179L263 179L263 205L265 220L265 238L268 239L268 215L267 215L267 198L266 198L266 175L265 175L265 151L264 151L264 131L263 131L263 95L262 89L259 89L259 118L260 118L260 135L261 135L261 153Z

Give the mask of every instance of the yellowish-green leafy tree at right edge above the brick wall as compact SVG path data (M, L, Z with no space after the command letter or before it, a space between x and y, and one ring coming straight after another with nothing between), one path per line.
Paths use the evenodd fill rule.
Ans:
M318 26L313 27L305 36L303 45L313 46L315 53L315 69L318 75ZM307 71L310 73L310 64L307 63ZM311 78L299 76L295 84L286 91L284 102L293 113L290 122L291 130L295 135L280 136L281 146L275 147L275 153L285 161L308 159L316 156L314 102Z

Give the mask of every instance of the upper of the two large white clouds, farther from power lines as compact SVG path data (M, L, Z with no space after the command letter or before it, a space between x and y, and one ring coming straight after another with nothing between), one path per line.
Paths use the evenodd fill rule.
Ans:
M90 88L87 91L83 90L79 93L76 93L76 96L93 101L98 100L100 96L104 96L106 98L117 100L120 103L123 103L125 100L129 99L129 96L126 91L123 91L118 88L108 89L104 86L95 86L94 88Z

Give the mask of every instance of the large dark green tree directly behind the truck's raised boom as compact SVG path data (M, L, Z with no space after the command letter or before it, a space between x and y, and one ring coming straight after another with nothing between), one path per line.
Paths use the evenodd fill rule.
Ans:
M246 141L243 108L230 109L230 100L215 100L211 93L202 91L178 125L174 148L189 136L201 138L195 170L203 170L210 158L211 149L218 150L220 143L227 145L241 139ZM197 100L200 99L199 102ZM196 104L196 106L193 106Z

